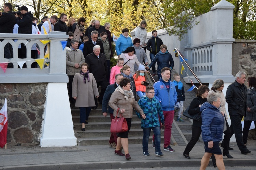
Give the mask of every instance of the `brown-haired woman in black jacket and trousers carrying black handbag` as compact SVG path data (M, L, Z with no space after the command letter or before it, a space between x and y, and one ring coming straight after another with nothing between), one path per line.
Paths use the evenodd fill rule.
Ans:
M201 85L197 89L197 95L196 95L197 97L191 101L189 107L187 108L189 115L194 115L194 114L198 114L198 113L200 113L200 115L201 115L200 107L204 102L207 102L207 96L208 96L209 91L210 91L210 89L206 85ZM200 118L200 120L198 120L198 121L193 120L192 137L183 152L183 156L185 156L188 159L190 159L189 152L196 145L196 142L198 141L200 134L202 132L201 125L202 125L202 118Z

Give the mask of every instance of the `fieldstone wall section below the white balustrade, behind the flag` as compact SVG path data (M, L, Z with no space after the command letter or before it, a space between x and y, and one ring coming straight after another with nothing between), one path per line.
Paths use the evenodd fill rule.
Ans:
M0 107L7 99L8 145L39 145L46 87L47 83L0 84Z

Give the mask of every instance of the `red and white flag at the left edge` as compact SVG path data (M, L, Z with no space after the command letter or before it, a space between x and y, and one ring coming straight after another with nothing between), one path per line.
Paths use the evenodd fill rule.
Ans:
M0 147L3 148L7 138L7 100L0 111Z

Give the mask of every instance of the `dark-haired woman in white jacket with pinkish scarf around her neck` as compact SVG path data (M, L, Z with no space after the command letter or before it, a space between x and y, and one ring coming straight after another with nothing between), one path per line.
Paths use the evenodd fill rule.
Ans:
M124 65L127 65L127 66L129 66L131 68L131 75L132 76L135 73L134 65L136 64L138 67L140 65L140 62L139 62L139 60L138 60L138 58L137 58L135 53L136 52L135 52L135 48L134 47L128 47L120 55L121 58L124 58Z

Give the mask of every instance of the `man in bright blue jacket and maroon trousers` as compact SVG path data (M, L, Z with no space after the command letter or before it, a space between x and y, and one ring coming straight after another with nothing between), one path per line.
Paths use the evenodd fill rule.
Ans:
M164 67L161 70L161 78L154 84L155 97L161 103L163 109L163 117L165 118L165 142L163 145L164 151L174 152L171 148L171 133L172 133L172 122L174 118L174 105L177 101L177 92L175 85L170 81L171 72L170 68ZM154 147L154 136L153 136L153 147Z

